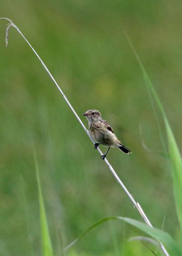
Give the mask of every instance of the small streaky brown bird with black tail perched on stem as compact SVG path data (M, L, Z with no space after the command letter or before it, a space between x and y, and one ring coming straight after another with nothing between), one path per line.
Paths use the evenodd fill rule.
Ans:
M125 154L131 153L130 149L127 149L121 143L121 141L117 139L113 129L111 128L111 125L101 117L101 113L98 110L90 109L82 115L85 116L88 120L89 133L96 142L94 144L94 149L97 149L100 144L108 147L106 153L101 155L103 160L106 158L106 155L111 147L118 148Z

